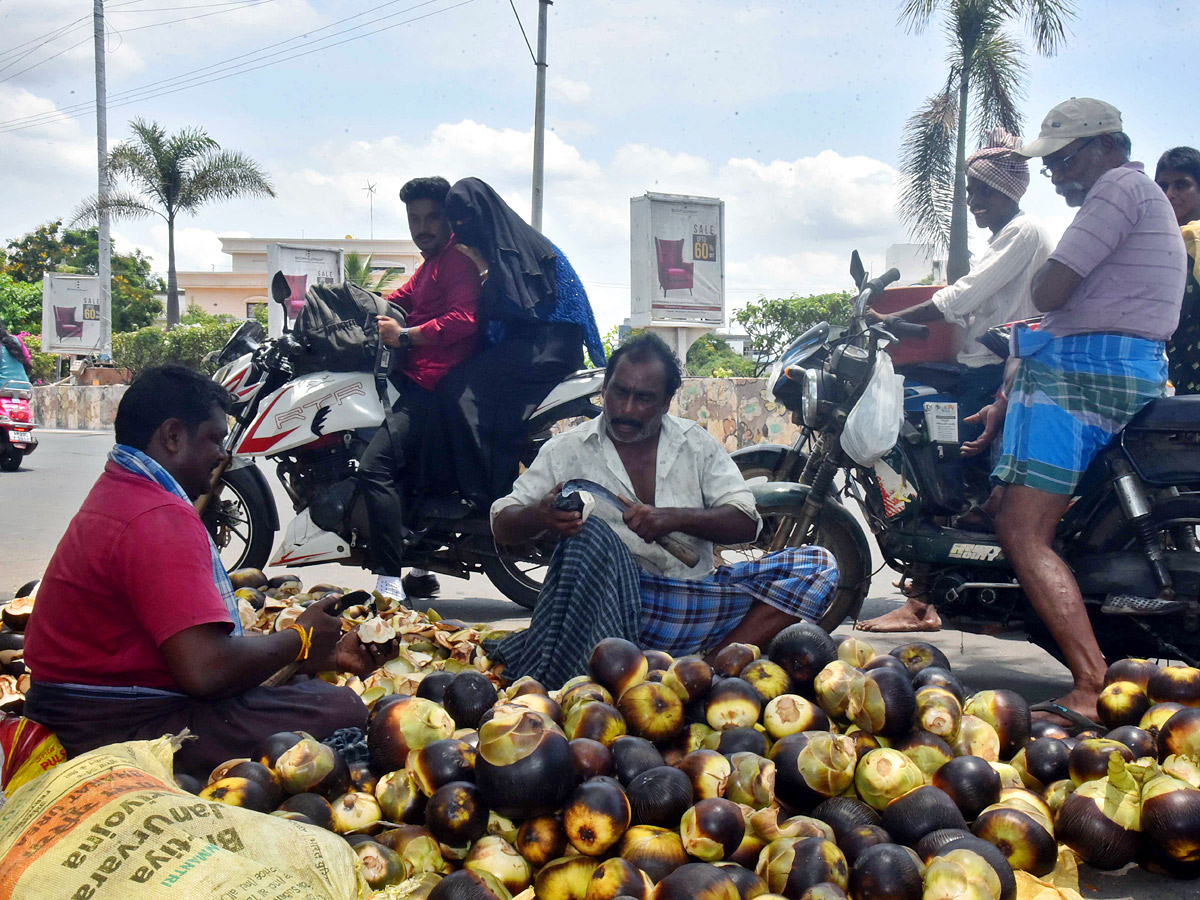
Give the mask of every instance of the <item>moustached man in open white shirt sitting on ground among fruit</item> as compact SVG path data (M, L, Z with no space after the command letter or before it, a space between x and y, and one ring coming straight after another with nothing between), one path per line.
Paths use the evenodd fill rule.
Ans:
M752 541L761 520L716 439L667 414L680 382L679 360L661 338L626 341L605 371L604 414L551 439L492 504L498 544L559 541L529 629L488 647L506 679L528 674L557 688L586 671L604 637L672 655L733 642L766 647L782 628L828 608L838 571L822 547L713 570L713 544ZM622 514L598 502L584 522L554 505L563 482L576 478L634 503ZM655 544L668 534L700 562L689 566Z

